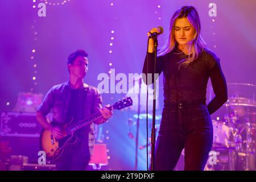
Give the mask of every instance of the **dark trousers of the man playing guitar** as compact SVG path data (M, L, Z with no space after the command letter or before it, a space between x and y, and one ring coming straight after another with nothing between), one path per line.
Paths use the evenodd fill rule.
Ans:
M76 144L68 147L67 152L63 158L56 162L58 171L85 171L88 163L90 162L90 156L85 155L86 146L82 144Z

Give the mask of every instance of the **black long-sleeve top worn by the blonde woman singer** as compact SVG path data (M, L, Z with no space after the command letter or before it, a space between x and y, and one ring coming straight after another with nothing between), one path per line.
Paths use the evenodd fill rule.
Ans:
M154 56L155 53L147 53L143 65L144 74L154 73ZM157 57L156 73L160 75L163 72L164 74L164 101L197 99L206 101L207 83L210 78L215 97L208 103L207 107L209 113L212 114L228 100L228 90L220 59L209 48L205 48L198 59L187 67L181 66L179 69L179 61L187 56L175 47L166 55ZM153 79L148 81L144 79L144 82L151 84Z

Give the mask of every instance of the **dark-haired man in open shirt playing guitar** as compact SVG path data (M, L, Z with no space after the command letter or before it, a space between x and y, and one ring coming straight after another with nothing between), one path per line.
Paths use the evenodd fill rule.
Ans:
M93 86L84 83L88 71L88 54L77 50L68 57L69 80L53 86L42 104L38 107L36 117L44 129L51 131L56 139L64 137L62 125L72 120L72 124L100 111L102 117L93 123L101 124L113 114L113 108L101 108L102 98ZM52 122L46 115L52 110ZM93 123L76 131L79 142L67 147L62 158L56 161L57 170L85 170L88 166L94 144ZM54 125L55 124L55 125ZM57 126L56 126L57 124Z

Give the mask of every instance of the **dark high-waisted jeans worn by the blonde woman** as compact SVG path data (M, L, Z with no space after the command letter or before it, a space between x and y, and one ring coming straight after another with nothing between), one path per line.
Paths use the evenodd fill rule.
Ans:
M172 171L185 148L184 170L204 170L213 127L204 101L165 102L156 140L155 170Z

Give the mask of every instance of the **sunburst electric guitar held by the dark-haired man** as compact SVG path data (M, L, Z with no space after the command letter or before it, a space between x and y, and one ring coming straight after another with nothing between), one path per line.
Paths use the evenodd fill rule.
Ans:
M112 105L113 109L123 109L125 107L133 105L133 100L130 97L123 99L122 101L115 102ZM49 162L60 159L67 150L67 147L76 144L79 141L79 138L76 137L75 132L83 127L89 125L90 123L96 121L98 118L102 117L100 111L96 114L91 115L90 117L83 119L75 124L72 124L73 119L69 119L67 125L59 126L64 137L61 139L56 139L52 135L50 130L43 129L40 135L40 148L42 151L46 152L46 158ZM53 126L58 126L53 123Z

